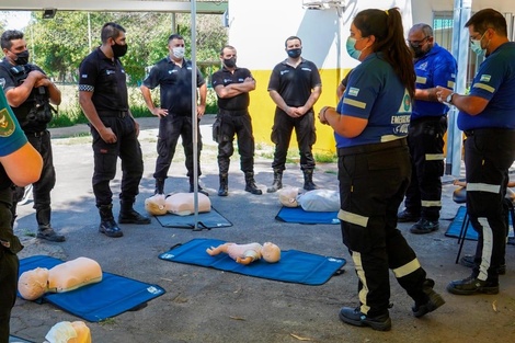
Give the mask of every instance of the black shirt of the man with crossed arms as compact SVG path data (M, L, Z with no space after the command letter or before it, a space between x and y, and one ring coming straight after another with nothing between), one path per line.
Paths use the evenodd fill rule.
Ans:
M220 70L216 71L211 76L211 85L216 88L219 84L224 87L231 83L243 83L247 78L252 78L252 75L247 68L236 68L232 73L226 67L222 67ZM228 111L244 111L249 108L250 96L249 93L241 93L232 98L221 99L218 98L218 107L221 110Z

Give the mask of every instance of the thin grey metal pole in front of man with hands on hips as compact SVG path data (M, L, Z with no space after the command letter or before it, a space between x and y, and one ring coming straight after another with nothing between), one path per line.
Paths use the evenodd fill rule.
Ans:
M197 62L196 62L196 0L192 0L192 130L193 130L193 207L195 227L198 230L198 123L197 123Z

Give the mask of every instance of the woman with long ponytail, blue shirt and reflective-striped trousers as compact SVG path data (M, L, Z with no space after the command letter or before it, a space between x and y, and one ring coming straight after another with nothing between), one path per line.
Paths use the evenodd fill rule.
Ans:
M339 315L345 323L388 331L389 270L414 300L414 317L445 302L397 229L397 210L411 176L407 136L415 73L398 9L357 13L346 47L360 64L337 107L319 113L320 122L334 129L339 218L359 278L359 305L343 307Z

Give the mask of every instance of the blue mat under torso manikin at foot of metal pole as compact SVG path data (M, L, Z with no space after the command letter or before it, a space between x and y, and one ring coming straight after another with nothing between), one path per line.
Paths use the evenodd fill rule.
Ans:
M165 228L180 228L180 229L193 229L195 228L195 215L178 216L173 214L167 214L164 216L156 216L159 224ZM225 228L231 227L232 222L227 220L220 215L215 208L211 207L210 211L198 214L197 218L198 229L213 229L213 228Z

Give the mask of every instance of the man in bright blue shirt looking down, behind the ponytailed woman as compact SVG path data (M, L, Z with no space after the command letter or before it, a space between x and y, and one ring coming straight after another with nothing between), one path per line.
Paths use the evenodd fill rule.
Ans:
M411 27L408 44L414 56L415 101L408 132L412 175L405 193L405 209L399 221L416 221L412 233L438 230L444 175L444 135L449 107L436 99L435 87L453 89L458 65L453 55L434 42L427 24Z

